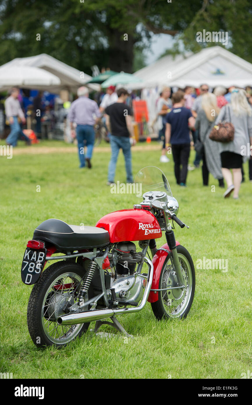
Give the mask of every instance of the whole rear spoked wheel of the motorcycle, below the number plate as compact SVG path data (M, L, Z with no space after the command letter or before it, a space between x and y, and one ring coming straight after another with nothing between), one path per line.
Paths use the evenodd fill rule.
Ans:
M36 346L64 347L88 330L89 323L57 323L58 317L66 314L64 309L68 299L71 305L77 302L83 275L82 266L66 260L49 266L34 285L28 302L27 323ZM88 300L88 295L85 300ZM83 307L83 311L87 309Z

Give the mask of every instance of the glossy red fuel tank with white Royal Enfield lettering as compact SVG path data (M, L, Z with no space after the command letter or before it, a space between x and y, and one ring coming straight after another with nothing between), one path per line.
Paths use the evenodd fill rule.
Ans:
M122 209L104 215L96 224L109 232L111 243L144 241L161 238L162 232L154 215L144 209Z

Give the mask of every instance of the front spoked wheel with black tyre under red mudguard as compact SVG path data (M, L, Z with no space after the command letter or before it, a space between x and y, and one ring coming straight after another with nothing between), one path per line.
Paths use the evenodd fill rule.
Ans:
M195 292L195 270L192 258L190 253L184 246L178 245L177 246L177 253L179 255L179 261L182 264L183 269L190 266L190 269L184 271L183 276L186 277L188 287L183 290L169 290L169 291L158 291L158 301L151 303L152 311L158 320L162 319L171 319L171 318L186 318L190 308L192 306L192 301L194 298ZM173 274L171 273L173 272ZM177 278L176 273L172 269L171 260L169 255L164 261L160 278L159 278L159 286L158 288L166 288L167 285L176 286L177 285ZM169 295L168 295L169 294ZM176 300L174 295L177 294L178 301ZM179 298L179 294L182 296ZM183 298L184 294L184 298ZM171 297L171 298L169 298ZM182 300L181 304L179 302ZM169 305L166 304L169 302ZM176 303L178 303L178 307L176 310ZM181 307L180 307L181 305ZM183 306L184 305L184 306ZM174 308L174 309L173 309Z

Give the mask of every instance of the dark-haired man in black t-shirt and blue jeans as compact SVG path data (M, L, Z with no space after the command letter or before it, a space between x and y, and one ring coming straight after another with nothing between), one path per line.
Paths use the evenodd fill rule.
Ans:
M132 110L125 104L128 92L126 89L117 90L117 102L109 105L105 109L106 125L111 131L110 145L111 145L111 159L109 162L109 173L107 185L114 183L115 168L118 158L118 153L122 148L125 167L127 173L127 183L133 183L132 168L131 168L131 151L130 151L130 138L132 144L135 144L135 137L133 136L132 128Z

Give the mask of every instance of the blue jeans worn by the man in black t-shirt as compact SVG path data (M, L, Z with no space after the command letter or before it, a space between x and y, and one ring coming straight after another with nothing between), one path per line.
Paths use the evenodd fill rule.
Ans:
M109 173L108 181L110 183L114 182L115 177L115 168L118 158L118 153L122 148L124 159L125 159L125 168L127 173L127 183L133 183L132 177L132 168L131 168L131 151L130 151L130 139L127 136L110 136L110 145L111 145L111 159L109 162Z

